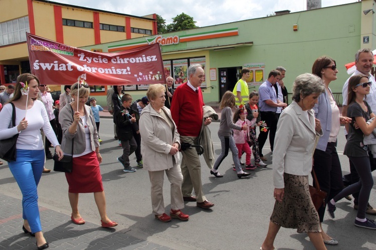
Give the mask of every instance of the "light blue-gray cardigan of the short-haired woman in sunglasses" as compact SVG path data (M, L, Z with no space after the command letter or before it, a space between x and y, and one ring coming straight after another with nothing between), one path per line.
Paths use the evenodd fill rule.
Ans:
M331 93L330 88L329 91ZM326 151L331 131L331 107L329 96L326 91L318 97L318 103L313 107L313 111L315 112L315 117L320 120L323 132L323 136L318 140L316 149Z

